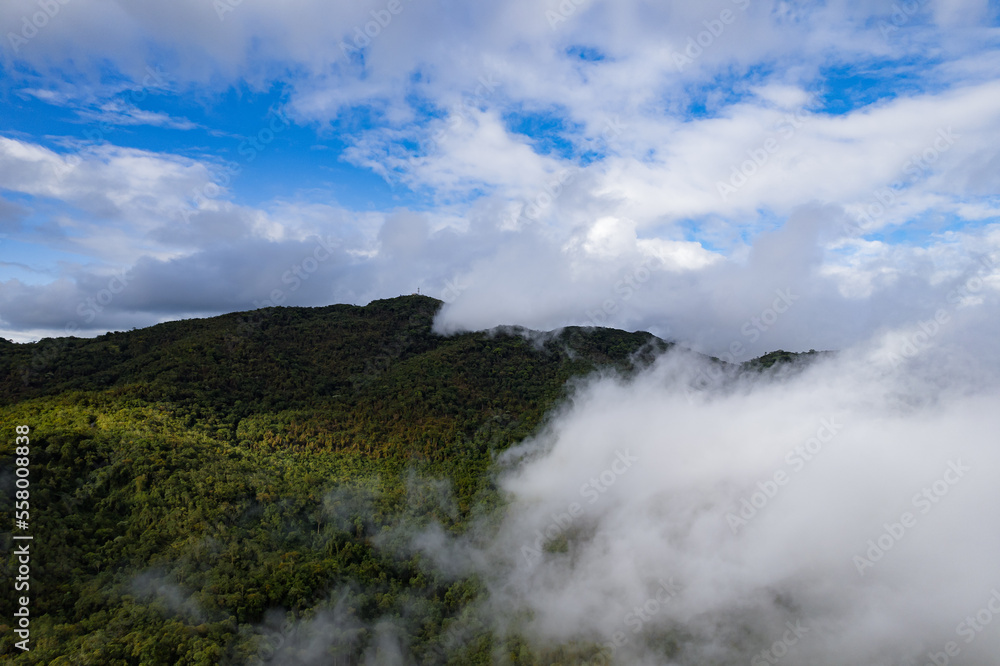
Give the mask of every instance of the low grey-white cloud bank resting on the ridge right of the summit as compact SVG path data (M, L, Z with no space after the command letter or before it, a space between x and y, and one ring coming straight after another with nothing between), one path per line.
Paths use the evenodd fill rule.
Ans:
M996 297L994 227L931 249L831 240L850 221L836 207L803 207L742 257L680 271L637 240L605 260L585 242L574 254L536 237L462 273L443 291L451 302L437 326L615 326L744 361L778 348L841 349L882 327L916 324L951 307L969 280ZM527 268L514 268L518 258Z

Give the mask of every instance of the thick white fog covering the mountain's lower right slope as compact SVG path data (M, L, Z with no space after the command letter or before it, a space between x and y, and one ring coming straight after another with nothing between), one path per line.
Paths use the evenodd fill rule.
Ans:
M498 460L499 527L420 545L500 632L593 663L994 664L993 307L764 373L675 347L593 377Z

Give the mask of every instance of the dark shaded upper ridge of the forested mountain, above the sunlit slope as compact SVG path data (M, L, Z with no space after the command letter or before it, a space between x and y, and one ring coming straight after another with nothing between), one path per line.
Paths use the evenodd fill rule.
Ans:
M535 370L562 367L558 374L565 379L599 364L624 369L640 348L667 346L647 333L575 327L549 335L542 349L513 334L516 329L442 337L430 330L440 305L404 296L365 307L277 307L91 339L8 343L0 347L0 404L67 390L141 386L151 399L172 401L197 389L204 392L199 399L238 413L327 399L363 403L402 388L393 386L401 374L412 376L411 385L419 380L443 388L441 372L452 383L462 383L463 374L464 384L482 379L505 399L496 389L524 382ZM415 374L421 370L439 372Z

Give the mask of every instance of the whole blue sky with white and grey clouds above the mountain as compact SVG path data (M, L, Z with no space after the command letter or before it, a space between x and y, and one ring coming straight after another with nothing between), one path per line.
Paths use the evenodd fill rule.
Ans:
M746 360L1000 287L995 1L10 0L0 35L14 341L419 290L441 332Z

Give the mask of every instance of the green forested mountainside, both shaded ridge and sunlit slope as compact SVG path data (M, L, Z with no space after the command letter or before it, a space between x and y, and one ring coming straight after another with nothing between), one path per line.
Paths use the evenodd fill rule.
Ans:
M276 307L0 340L0 659L23 664L575 664L481 616L403 541L496 517L494 459L648 333L440 336L440 301ZM757 371L793 358L775 352ZM30 651L16 647L15 427L30 428ZM401 527L406 529L401 529Z

